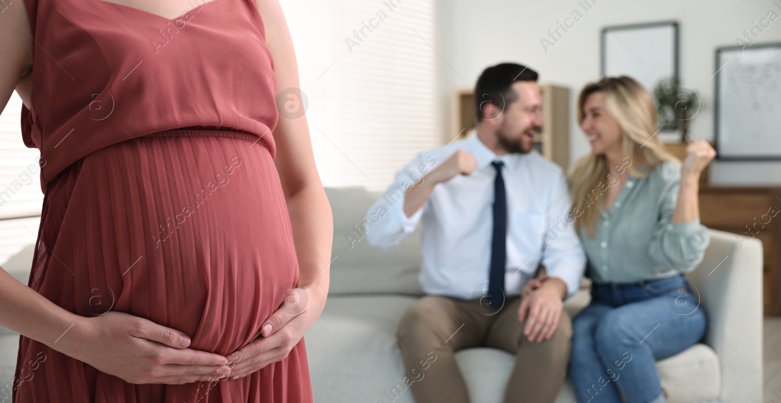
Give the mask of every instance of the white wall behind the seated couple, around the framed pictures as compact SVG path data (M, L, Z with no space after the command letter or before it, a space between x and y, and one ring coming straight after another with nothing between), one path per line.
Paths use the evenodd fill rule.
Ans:
M557 27L576 9L583 13L583 19L544 51L540 38L547 37L547 30ZM519 62L539 72L540 81L570 88L570 161L575 161L589 150L575 121L575 101L586 83L600 78L602 28L676 20L681 85L697 90L705 105L693 119L691 137L712 140L715 48L735 45L736 38L744 37L744 30L768 16L771 9L781 16L781 0L597 0L588 12L575 0L442 0L437 12L441 35L437 51L441 55L440 96L446 106L442 124L448 128L443 137L449 141L460 129L450 127L453 87L473 86L489 65ZM761 33L756 43L778 41L781 18ZM716 161L711 182L781 185L781 162Z

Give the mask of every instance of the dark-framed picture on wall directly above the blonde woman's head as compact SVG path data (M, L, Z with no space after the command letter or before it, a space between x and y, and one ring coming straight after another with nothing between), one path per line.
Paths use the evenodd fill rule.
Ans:
M604 27L601 40L602 76L630 76L651 94L660 83L673 83L677 87L679 46L676 21ZM660 131L678 129L675 111L660 112Z

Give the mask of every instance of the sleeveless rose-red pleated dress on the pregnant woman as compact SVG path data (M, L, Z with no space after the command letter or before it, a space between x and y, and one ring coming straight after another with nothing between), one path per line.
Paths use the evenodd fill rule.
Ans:
M298 281L255 0L193 2L177 19L102 0L24 4L35 50L22 131L41 150L45 194L28 285L80 316L130 313L235 358ZM298 403L312 388L303 338L250 376L164 385L21 337L12 395Z

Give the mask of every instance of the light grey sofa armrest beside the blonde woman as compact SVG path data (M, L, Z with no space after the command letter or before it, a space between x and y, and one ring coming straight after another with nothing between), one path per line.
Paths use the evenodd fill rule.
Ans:
M726 401L761 401L762 242L710 230L697 270L686 274L708 316L705 343L719 355Z

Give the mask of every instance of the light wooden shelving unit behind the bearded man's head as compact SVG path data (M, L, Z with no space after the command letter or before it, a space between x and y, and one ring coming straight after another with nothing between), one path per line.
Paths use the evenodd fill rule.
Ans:
M457 88L453 94L453 129L458 138L475 128L474 88ZM569 88L540 84L544 127L533 147L565 171L569 167Z

